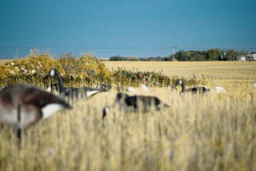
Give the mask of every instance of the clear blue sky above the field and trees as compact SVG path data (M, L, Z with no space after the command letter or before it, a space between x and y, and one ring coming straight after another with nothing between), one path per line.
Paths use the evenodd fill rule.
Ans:
M52 47L53 55L72 51L76 56L93 51L100 58L163 57L172 49L99 48L256 51L255 21L255 0L1 0L0 47ZM29 49L0 48L0 58L17 52L24 56Z

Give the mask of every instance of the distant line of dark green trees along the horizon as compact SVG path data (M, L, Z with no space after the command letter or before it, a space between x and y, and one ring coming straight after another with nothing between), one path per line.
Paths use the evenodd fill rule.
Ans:
M255 54L255 51L235 51L225 50L222 51L219 48L210 49L207 51L178 51L175 53L175 59L177 61L238 61L240 56L245 56L246 61L252 61L250 54ZM173 61L172 55L167 57L149 57L149 58L138 58L138 57L121 57L112 56L109 61Z

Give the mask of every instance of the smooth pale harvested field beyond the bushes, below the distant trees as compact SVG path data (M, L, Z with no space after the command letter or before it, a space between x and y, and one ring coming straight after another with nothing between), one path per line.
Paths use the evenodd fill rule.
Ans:
M139 71L161 71L169 77L192 78L210 77L215 80L247 80L256 79L256 62L242 61L206 61L206 62L144 62L144 61L103 61L106 67L125 68Z

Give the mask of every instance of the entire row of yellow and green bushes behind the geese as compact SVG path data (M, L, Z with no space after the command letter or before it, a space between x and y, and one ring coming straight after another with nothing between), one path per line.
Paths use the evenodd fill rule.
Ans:
M93 86L100 83L119 86L139 86L142 83L147 86L167 86L174 85L177 80L154 71L127 71L123 68L109 71L92 54L77 58L72 53L65 53L52 58L50 53L32 51L25 58L14 59L0 66L0 85L30 83L45 88L50 81L56 81L56 78L45 78L51 68L56 68L61 73L65 86ZM196 78L184 79L184 82L187 85L198 83Z

